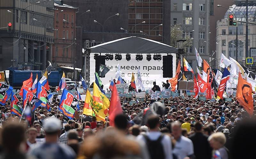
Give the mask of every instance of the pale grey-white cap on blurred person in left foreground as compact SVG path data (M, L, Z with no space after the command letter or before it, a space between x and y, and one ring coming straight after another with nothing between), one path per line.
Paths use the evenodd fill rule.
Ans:
M60 130L61 122L59 119L56 118L48 118L47 120L44 121L44 131L46 133L53 133L58 130Z

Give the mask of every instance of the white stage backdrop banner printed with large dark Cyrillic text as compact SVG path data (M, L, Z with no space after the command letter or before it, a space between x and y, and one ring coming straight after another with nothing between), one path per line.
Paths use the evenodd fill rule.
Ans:
M105 55L105 54L101 54ZM117 63L119 63L122 75L121 77L124 79L126 83L130 83L132 78L132 72L134 73L135 79L137 79L137 72L138 68L140 69L140 75L142 79L142 83L145 87L145 90L151 89L153 87L153 82L156 81L156 85L159 85L160 88L162 88L162 82L166 82L166 80L169 80L170 78L163 78L163 55L162 54L162 60L161 61L155 61L153 60L153 54L151 54L151 61L147 61L146 54L143 54L143 60L142 61L136 61L135 57L136 54L131 54L131 60L127 61L125 59L126 54L122 54L122 60L116 61L115 57L114 60L108 60L106 61L106 66L110 69L110 71L105 75L104 78L100 78L102 84L104 85L103 90L107 90L110 84L111 77L113 79L116 76L116 66ZM172 54L172 76L175 76L176 72L176 54ZM93 58L94 54L90 55L90 84L95 81L95 60ZM114 54L115 56L115 54ZM117 79L116 79L117 82Z

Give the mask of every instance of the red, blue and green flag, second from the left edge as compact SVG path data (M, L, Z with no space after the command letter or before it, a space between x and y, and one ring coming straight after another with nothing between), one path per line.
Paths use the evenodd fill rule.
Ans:
M19 117L21 117L21 113L22 113L23 109L20 104L20 101L13 92L12 92L11 96L12 96L11 97L11 114L15 114L15 115L18 115Z

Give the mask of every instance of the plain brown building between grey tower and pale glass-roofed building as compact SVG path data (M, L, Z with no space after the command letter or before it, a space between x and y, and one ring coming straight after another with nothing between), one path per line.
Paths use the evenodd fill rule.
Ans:
M210 40L209 43L211 45L209 45L209 53L213 54L212 58L210 58L209 61L211 61L211 59L216 58L216 22L218 20L221 20L222 18L224 18L225 13L226 13L226 9L225 8L220 8L217 7L217 5L222 5L224 7L229 7L231 5L234 4L233 0L210 0L210 31L211 34L209 34ZM212 65L215 66L215 60L212 61Z

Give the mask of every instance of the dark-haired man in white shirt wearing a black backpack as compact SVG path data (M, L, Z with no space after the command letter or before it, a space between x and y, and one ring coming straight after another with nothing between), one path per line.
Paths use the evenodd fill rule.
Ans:
M161 132L159 132L159 126L159 117L155 115L150 116L148 118L148 127L150 129L149 132L147 132L145 135L140 134L139 136L137 136L137 140L138 142L144 142L148 145L148 152L151 156L151 159L172 159L171 138L168 135L163 135ZM162 147L161 145L160 147L152 147L152 143L156 144L156 142L161 142ZM156 150L158 148L161 149L161 152Z

